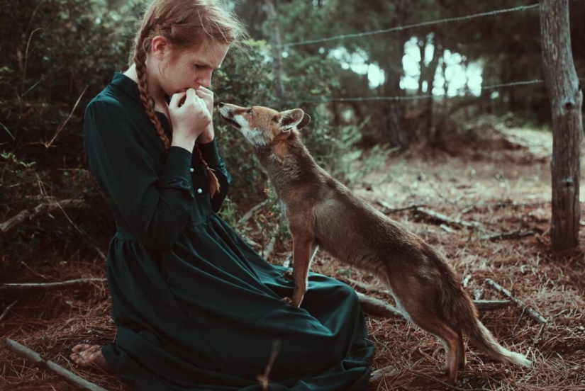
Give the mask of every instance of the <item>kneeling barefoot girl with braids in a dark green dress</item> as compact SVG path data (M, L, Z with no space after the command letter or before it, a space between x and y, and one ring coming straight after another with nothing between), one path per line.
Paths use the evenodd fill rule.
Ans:
M116 341L72 361L135 390L364 390L373 345L355 293L312 274L303 307L284 268L216 212L230 183L206 87L244 30L214 0L154 0L130 67L87 106L89 166L116 218L108 284ZM279 349L273 349L279 346Z

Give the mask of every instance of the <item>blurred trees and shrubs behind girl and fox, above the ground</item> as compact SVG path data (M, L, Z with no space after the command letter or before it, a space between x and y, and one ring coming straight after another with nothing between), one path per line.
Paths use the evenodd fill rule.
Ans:
M585 55L576 48L585 47L585 1L569 3L574 60L584 75ZM233 2L251 40L215 73L216 100L303 108L313 118L305 135L311 152L348 184L363 174L352 162L367 161L360 166L367 169L391 152L446 149L481 115L550 125L537 6L467 18L534 1L275 0L275 20L266 4ZM3 1L0 222L57 201L69 208L4 227L0 269L40 248L63 256L104 248L113 234L87 171L83 114L113 72L126 69L142 9L140 0ZM378 33L365 34L372 31ZM282 96L273 84L274 50ZM234 176L224 214L235 219L265 197L267 185L239 135L219 121L216 128Z

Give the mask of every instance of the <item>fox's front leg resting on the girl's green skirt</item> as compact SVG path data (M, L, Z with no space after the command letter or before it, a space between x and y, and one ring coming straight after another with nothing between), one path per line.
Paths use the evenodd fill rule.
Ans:
M301 307L303 297L307 291L308 268L318 246L312 237L305 235L293 236L293 280L294 292L291 305Z

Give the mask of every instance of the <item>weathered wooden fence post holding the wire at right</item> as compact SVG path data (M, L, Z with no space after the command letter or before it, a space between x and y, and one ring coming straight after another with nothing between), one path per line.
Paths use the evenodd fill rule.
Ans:
M579 85L569 34L569 2L540 0L545 81L552 108L552 224L555 251L579 245L580 147L583 130Z

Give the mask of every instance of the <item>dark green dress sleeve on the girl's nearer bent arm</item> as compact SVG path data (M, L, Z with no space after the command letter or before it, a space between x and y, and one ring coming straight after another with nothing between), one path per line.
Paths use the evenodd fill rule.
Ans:
M168 250L183 232L194 203L191 152L170 147L162 174L145 149L140 128L123 108L94 101L84 120L89 166L127 227L145 245Z

